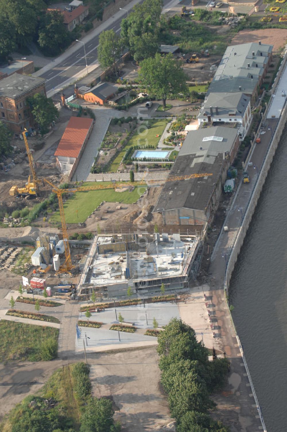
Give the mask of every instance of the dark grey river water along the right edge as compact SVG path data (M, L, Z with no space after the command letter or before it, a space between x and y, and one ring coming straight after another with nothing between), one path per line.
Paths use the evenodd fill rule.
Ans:
M268 432L287 431L287 130L230 282L233 320Z

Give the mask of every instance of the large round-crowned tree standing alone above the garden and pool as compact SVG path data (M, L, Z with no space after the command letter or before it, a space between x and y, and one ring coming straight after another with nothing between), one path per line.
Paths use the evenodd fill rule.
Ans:
M186 79L181 64L173 58L172 54L161 57L155 54L140 63L139 78L142 86L148 92L162 99L163 108L169 95L177 95L187 91Z

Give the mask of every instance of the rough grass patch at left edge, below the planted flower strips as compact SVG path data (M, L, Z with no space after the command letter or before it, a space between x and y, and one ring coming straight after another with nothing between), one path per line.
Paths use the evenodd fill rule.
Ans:
M41 346L48 339L58 341L59 330L32 324L0 321L0 362L41 361Z

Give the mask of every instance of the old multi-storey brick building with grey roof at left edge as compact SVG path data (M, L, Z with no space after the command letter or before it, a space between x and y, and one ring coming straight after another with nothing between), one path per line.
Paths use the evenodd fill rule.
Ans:
M0 81L0 120L12 132L20 134L34 126L26 99L36 93L46 95L45 79L14 73Z

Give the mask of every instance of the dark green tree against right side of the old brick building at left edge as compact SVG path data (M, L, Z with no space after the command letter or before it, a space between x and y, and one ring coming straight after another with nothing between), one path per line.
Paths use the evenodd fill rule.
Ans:
M40 127L41 135L49 131L50 124L59 117L59 111L51 98L36 93L27 98L35 123Z

